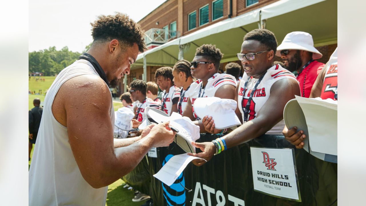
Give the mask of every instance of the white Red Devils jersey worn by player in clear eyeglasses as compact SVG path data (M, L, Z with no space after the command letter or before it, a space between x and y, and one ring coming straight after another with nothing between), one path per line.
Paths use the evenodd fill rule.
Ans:
M283 78L292 78L296 80L296 77L294 74L292 74L290 71L284 69L280 65L274 65L270 67L262 80L257 85L257 88L255 89L253 93L253 99L250 102L249 107L249 114L247 121L250 121L257 117L257 114L259 110L263 107L263 105L266 103L267 99L270 95L270 89L272 85ZM249 79L249 80L248 80ZM245 82L248 80L246 88L244 88ZM247 74L244 72L243 78L240 81L239 84L239 91L238 91L238 107L240 112L242 113L243 122L244 121L244 112L245 106L248 102L248 99L250 97L251 92L253 91L253 88L255 87L256 83L259 79L255 79L252 77L247 76ZM297 80L296 80L297 81ZM245 90L244 90L245 89ZM244 96L244 98L243 98ZM282 130L285 126L285 122L282 119L279 123L277 123L275 126L273 126L272 129L270 129L268 132L266 132L267 135L282 135Z

